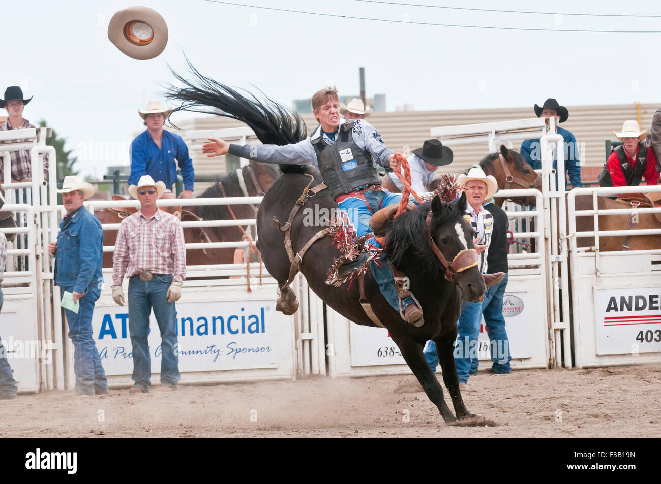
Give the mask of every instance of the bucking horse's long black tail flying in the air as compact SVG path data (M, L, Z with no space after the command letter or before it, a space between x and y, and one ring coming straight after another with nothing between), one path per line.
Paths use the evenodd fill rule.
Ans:
M265 145L288 145L307 137L305 121L298 115L264 95L259 100L251 94L241 94L202 74L186 59L194 80L184 79L172 68L173 75L184 85L168 86L167 98L180 102L176 111L192 111L225 116L246 123ZM261 92L261 91L260 91Z

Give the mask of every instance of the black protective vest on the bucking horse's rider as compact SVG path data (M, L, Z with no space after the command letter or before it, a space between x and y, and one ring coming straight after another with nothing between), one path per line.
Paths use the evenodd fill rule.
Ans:
M324 141L323 133L311 141L317 152L319 171L333 199L364 185L381 185L381 176L371 154L354 143L353 127L354 120L340 126L332 145Z

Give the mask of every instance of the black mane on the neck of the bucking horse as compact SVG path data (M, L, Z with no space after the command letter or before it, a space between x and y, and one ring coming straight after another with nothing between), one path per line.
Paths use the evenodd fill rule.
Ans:
M440 215L432 217L432 230L447 225L463 213L459 203L443 203L444 209ZM430 209L430 203L423 203L418 209L402 213L395 221L385 226L387 254L395 266L399 265L406 255L415 255L426 261L426 269L438 271L440 268L428 239L426 219Z

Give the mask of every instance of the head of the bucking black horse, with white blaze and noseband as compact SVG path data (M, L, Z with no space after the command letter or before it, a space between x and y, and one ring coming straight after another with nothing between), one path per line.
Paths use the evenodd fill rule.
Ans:
M426 222L432 252L446 268L446 279L459 286L463 300L477 302L482 300L486 286L473 245L475 230L463 217L465 213L465 193L461 193L457 203L447 203L436 196Z

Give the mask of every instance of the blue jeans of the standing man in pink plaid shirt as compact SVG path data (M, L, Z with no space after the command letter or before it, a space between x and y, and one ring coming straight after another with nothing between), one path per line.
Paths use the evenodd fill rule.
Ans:
M161 330L161 385L175 386L179 381L179 357L176 339L176 310L174 302L167 302L171 275L154 276L141 281L134 276L128 283L128 329L133 347L133 380L143 390L151 387L151 359L149 357L149 316L154 316Z

